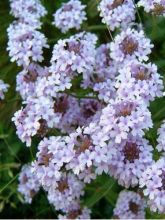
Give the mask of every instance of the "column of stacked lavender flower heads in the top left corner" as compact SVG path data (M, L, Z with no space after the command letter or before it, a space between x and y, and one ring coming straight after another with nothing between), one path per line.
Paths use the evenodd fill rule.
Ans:
M16 20L8 27L8 47L11 61L27 67L43 61L43 48L48 48L47 39L38 31L41 17L47 12L36 0L11 0L11 13Z

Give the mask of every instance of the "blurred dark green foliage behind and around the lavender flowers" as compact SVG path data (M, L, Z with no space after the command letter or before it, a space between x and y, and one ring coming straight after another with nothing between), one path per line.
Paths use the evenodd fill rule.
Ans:
M99 0L98 0L99 1ZM83 24L82 30L91 31L98 35L100 43L111 41L109 32L101 23L97 11L97 0L82 0L87 4L88 21ZM43 18L42 31L49 39L50 50L44 51L44 65L49 65L52 47L61 38L66 38L74 33L74 30L62 34L52 26L52 14L60 7L65 0L41 0L48 10L48 15ZM138 10L137 22L142 22L146 35L152 40L155 47L151 55L151 61L158 65L162 76L165 75L165 18L154 17L146 14L142 9ZM140 19L139 19L140 17ZM10 84L6 99L0 102L0 218L56 218L54 208L49 205L46 194L41 190L34 198L31 205L23 204L22 196L17 192L18 174L23 164L33 160L36 153L36 146L39 140L33 141L31 148L26 148L16 136L16 130L11 122L14 112L21 107L21 98L15 92L16 75L21 70L16 64L10 63L6 52L7 33L6 29L13 21L10 15L8 0L0 0L0 78ZM141 21L140 21L141 20ZM117 32L117 31L116 31ZM115 35L116 33L113 33ZM165 79L165 78L164 78ZM74 81L73 89L76 88L78 95L84 91ZM156 131L161 121L165 118L165 99L157 99L151 103L150 110L154 120L154 128L146 133L151 144L156 146ZM154 158L160 155L155 151ZM82 203L92 209L92 218L111 218L118 193L122 190L115 180L102 175L86 187L86 194ZM133 189L136 190L136 189ZM165 215L158 215L146 210L147 218L165 218Z

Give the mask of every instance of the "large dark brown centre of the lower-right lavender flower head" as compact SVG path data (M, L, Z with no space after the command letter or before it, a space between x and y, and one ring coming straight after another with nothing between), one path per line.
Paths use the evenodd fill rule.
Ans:
M136 143L127 142L123 149L124 153L124 162L129 161L133 163L134 160L139 159L140 150Z

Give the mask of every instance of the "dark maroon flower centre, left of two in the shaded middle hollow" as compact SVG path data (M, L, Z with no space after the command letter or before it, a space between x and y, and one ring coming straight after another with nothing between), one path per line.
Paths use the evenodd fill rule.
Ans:
M54 112L65 114L69 107L67 97L60 97L54 103Z

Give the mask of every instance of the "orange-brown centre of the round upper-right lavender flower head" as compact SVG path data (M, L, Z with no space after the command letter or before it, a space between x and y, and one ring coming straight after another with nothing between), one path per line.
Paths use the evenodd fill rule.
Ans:
M120 45L125 55L132 55L138 49L138 42L131 37L125 37Z

